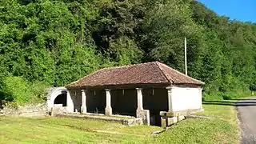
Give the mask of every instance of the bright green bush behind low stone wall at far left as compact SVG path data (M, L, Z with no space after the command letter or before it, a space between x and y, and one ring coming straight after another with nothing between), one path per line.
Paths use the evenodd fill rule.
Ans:
M22 77L10 76L3 79L1 94L6 101L22 105L43 102L45 88L42 82L30 83Z

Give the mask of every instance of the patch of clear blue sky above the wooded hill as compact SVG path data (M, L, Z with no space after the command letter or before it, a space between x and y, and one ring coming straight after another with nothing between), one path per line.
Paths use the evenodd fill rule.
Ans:
M231 20L256 22L256 0L198 0L219 15Z

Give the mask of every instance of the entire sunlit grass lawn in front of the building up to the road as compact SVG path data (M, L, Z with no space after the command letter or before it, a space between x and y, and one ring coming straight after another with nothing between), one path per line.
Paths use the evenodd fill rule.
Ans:
M238 143L234 106L208 102L200 115L188 118L161 134L158 126L121 124L77 118L0 117L0 143Z

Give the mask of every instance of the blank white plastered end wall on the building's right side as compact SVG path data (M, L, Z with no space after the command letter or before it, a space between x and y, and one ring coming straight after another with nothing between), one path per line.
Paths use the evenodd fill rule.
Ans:
M172 110L202 109L202 88L188 86L172 86Z

